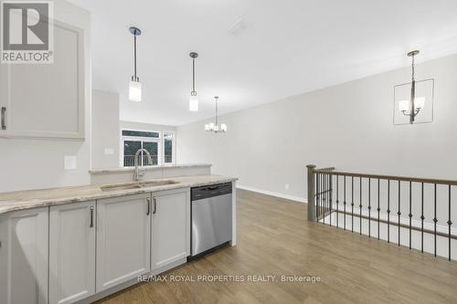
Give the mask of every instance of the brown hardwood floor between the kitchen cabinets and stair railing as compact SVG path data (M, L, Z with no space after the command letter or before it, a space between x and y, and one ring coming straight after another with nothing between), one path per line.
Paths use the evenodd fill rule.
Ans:
M457 303L457 263L306 221L306 204L238 191L238 246L99 303ZM203 282L198 276L246 276ZM275 275L274 282L247 276ZM281 276L320 282L282 282ZM183 276L183 277L179 277Z

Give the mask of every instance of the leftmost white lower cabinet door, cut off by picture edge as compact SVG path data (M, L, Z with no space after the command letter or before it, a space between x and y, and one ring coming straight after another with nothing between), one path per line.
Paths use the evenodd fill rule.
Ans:
M48 207L0 215L0 303L48 304Z

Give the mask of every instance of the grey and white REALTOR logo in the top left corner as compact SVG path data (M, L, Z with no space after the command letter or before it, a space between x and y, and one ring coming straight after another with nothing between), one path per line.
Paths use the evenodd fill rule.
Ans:
M1 7L1 62L53 63L53 3L2 1Z

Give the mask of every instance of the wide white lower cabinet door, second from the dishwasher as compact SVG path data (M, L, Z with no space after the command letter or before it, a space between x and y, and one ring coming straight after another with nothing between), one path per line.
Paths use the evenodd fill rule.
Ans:
M97 201L97 292L151 270L151 194Z

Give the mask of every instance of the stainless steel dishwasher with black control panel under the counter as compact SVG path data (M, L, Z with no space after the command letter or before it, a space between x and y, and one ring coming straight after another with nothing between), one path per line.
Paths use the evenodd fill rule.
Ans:
M192 188L191 257L225 246L232 234L232 184Z

